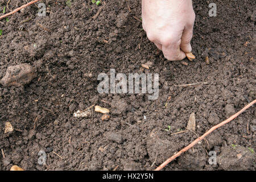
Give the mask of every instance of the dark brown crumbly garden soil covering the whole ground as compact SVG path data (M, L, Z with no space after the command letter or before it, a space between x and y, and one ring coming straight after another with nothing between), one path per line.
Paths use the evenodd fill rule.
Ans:
M185 130L191 113L196 114L196 134L202 135L255 100L253 0L215 0L217 17L209 17L207 1L194 3L196 60L187 60L187 67L164 59L147 39L133 17L141 17L140 1L127 1L131 13L126 1L105 1L96 19L92 16L102 5L89 0L71 1L70 7L62 0L44 2L46 17L31 5L0 23L0 78L11 65L27 63L37 72L30 84L0 85L2 170L14 164L26 170L155 169L197 138L191 132L170 135ZM1 12L6 3L1 1ZM9 9L25 3L11 0ZM148 61L151 68L142 68ZM99 94L97 76L109 74L110 68L159 73L158 100L148 100L148 94ZM175 86L201 81L209 84ZM101 113L73 117L94 104L110 110L109 121L101 121ZM255 115L250 107L210 134L208 143L202 141L164 169L255 170L255 153L248 149L256 149ZM7 121L16 130L4 134ZM171 130L164 131L168 126ZM40 150L47 156L43 166ZM220 156L217 165L208 163L212 150Z

